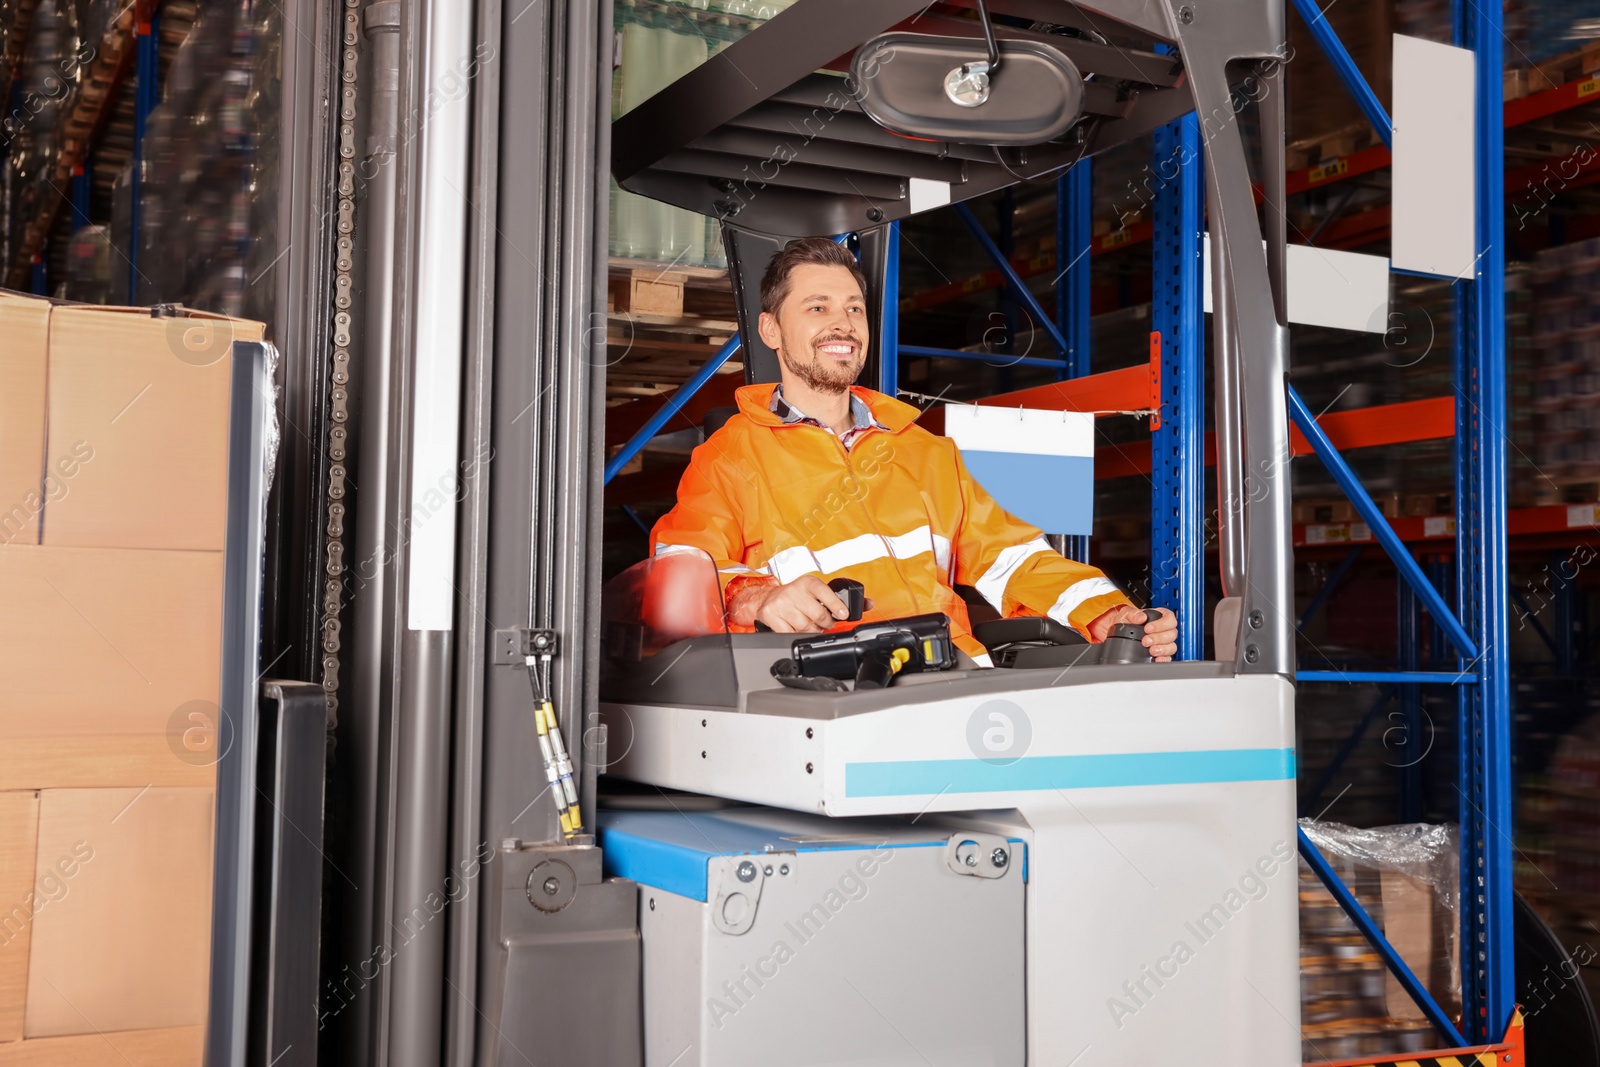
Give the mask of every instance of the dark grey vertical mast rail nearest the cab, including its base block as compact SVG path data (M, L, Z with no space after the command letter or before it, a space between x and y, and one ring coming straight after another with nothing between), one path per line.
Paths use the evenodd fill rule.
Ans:
M478 26L496 61L475 85L470 270L478 302L469 320L462 451L493 459L461 510L458 584L470 608L458 632L451 856L459 862L490 848L494 859L453 917L446 1061L637 1062L637 997L618 995L637 993L634 889L600 881L594 848L558 843L528 675L493 665L491 656L493 630L531 625L560 635L550 664L555 707L581 806L592 816L600 728L590 718L598 685L590 621L600 609L600 558L590 545L602 520L611 86L610 67L594 58L610 54L611 5L507 13L499 0L482 0ZM536 912L522 891L534 856L523 840L552 841L538 846L541 862L582 875L558 913ZM562 939L597 952L563 957ZM560 985L530 985L555 974L600 1013L592 1025L571 1025L571 997L552 995ZM530 1035L538 1035L536 1053Z

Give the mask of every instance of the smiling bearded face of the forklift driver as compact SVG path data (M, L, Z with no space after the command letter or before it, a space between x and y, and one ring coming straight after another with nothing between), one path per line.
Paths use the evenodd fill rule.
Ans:
M789 275L776 315L762 312L760 334L778 350L784 378L842 394L867 362L867 301L845 267L803 264Z

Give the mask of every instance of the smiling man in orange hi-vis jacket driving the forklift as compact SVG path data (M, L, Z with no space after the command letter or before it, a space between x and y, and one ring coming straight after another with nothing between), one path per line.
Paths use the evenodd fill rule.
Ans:
M717 563L730 630L826 630L848 617L829 579L866 587L862 619L942 611L979 665L971 585L1000 616L1048 616L1091 641L1147 622L1155 659L1178 651L1178 619L1147 617L1096 568L1067 560L966 472L955 442L915 426L917 408L856 386L867 358L866 277L848 250L792 242L762 278L760 336L782 382L744 386L739 413L694 450L653 555ZM1042 486L1042 491L1045 486Z

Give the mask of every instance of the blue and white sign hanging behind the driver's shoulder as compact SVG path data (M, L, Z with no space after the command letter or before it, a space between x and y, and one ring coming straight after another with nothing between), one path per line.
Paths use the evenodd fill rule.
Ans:
M1093 533L1093 414L952 403L944 435L1000 507L1045 533Z

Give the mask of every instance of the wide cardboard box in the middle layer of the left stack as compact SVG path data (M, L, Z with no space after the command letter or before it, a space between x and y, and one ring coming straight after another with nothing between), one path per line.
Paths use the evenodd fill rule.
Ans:
M0 603L0 750L94 734L178 745L184 709L216 707L219 552L3 545Z

